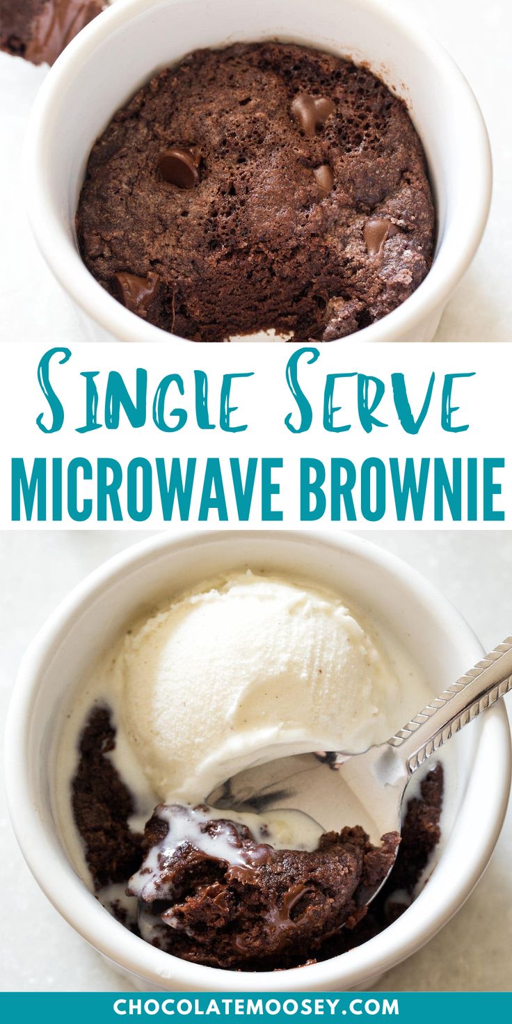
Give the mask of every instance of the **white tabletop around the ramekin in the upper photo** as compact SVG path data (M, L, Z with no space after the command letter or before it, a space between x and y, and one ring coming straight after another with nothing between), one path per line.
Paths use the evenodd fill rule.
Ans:
M123 0L116 0L122 3ZM236 2L236 0L233 0ZM397 6L388 0L389 6ZM512 318L512 140L510 135L510 0L400 0L445 45L485 117L495 161L493 210L484 240L453 296L437 341L509 341ZM85 340L71 301L36 249L24 212L22 141L42 68L0 53L0 331L4 341L59 344ZM91 97L91 102L94 99ZM5 202L5 198L7 202ZM92 330L88 337L92 337Z

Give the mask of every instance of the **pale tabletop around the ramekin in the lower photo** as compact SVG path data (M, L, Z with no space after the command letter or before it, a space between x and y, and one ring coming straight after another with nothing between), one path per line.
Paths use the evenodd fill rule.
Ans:
M0 537L0 721L27 644L55 604L137 532L3 534ZM365 535L364 535L365 536ZM512 631L512 532L373 532L452 599L488 649ZM510 698L507 698L510 699ZM381 990L512 989L512 814L482 881L423 950L390 971ZM33 881L0 795L0 988L124 990L126 980L57 914Z

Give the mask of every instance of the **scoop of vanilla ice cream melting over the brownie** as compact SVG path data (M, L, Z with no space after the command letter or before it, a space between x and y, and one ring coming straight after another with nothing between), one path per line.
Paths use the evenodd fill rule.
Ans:
M251 572L154 615L126 636L118 670L124 729L167 802L201 802L260 760L365 750L392 733L400 699L336 595Z

